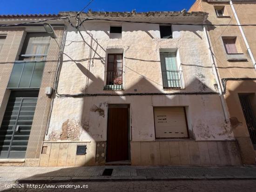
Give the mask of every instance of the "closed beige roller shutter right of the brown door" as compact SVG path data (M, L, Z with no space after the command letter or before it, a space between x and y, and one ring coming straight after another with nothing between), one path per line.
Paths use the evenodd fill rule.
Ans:
M188 138L184 107L154 107L156 138Z

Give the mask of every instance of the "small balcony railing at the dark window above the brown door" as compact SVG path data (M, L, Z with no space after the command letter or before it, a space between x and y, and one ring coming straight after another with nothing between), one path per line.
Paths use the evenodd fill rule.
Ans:
M107 81L104 90L122 90L123 89L123 73L122 71L108 71Z

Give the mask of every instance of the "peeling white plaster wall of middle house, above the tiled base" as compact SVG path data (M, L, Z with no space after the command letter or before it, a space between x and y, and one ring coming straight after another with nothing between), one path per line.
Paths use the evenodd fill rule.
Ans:
M109 39L108 22L68 28L58 93L215 92L202 26L173 26L173 39L160 39L159 25L122 23L122 39ZM88 33L84 30L86 28ZM91 43L92 42L92 43ZM107 53L124 54L124 90L104 91ZM177 52L185 89L163 90L160 49ZM72 73L70 73L72 72ZM106 141L108 104L130 104L132 141L155 141L154 106L185 106L191 139L233 140L220 98L212 95L97 96L54 98L46 141Z

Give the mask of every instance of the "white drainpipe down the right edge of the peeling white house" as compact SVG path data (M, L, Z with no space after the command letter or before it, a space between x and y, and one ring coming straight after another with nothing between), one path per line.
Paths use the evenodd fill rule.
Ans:
M211 46L210 46L210 39L209 39L208 33L206 31L206 26L203 26L203 32L204 32L204 36L206 39L206 43L207 43L207 47L208 47L208 51L209 51L209 55L210 55L211 65L213 67L213 72L214 72L215 79L216 79L217 85L218 85L218 91L219 91L219 95L220 95L220 99L221 99L221 103L222 103L222 110L224 113L224 117L225 117L226 122L229 122L229 112L227 110L225 98L224 98L224 95L222 92L221 80L220 80L218 72L217 72L215 59L214 59L213 52L212 52Z

